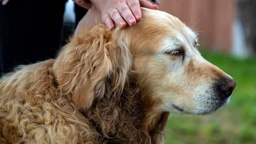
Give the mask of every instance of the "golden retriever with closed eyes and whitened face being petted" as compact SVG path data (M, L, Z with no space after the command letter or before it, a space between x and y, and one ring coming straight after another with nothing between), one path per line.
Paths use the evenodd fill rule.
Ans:
M208 114L236 82L178 18L142 8L133 27L80 30L56 59L0 80L0 143L163 143L169 113Z

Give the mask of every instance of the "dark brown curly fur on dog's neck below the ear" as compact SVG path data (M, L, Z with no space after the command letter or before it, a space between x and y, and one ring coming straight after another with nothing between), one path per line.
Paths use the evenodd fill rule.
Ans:
M169 112L154 109L150 96L129 80L122 94L95 99L84 113L95 129L111 143L161 143ZM108 92L106 92L108 93ZM150 103L150 105L149 105Z

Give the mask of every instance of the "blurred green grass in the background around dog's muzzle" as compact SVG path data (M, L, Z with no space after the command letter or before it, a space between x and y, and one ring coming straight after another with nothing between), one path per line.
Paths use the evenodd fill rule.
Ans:
M256 144L256 58L206 50L202 56L236 80L231 101L210 115L170 114L165 143Z

